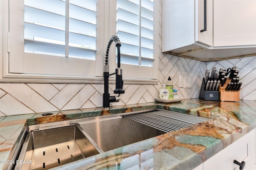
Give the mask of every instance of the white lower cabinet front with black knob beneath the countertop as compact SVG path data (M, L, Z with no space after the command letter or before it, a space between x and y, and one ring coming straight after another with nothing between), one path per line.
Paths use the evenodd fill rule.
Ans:
M239 170L233 161L246 162L244 170L255 164L255 129L203 163L204 170Z

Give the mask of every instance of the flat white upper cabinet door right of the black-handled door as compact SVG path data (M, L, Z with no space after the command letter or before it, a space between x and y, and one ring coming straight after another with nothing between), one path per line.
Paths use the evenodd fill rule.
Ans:
M256 45L256 0L214 0L214 47Z

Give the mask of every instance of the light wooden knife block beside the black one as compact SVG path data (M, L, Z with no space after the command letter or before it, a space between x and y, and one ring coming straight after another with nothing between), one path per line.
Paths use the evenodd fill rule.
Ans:
M227 79L223 87L219 88L220 101L222 102L239 102L239 91L226 91L226 87L231 80Z

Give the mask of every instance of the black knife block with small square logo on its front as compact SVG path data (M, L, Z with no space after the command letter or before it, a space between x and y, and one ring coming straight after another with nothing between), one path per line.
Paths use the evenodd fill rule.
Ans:
M202 99L202 100L218 101L219 100L219 91L218 90L206 90L206 84L204 82L204 79L205 78L203 78L203 80L202 80L202 85L201 85L199 98Z

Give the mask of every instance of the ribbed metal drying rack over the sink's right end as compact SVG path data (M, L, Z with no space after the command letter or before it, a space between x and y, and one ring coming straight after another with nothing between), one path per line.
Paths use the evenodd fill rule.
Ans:
M150 111L146 113L134 113L130 115L124 115L124 117L143 123L150 127L154 127L166 133L210 120L203 117L165 110Z

